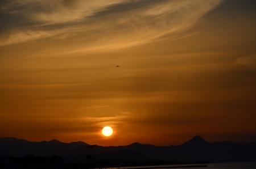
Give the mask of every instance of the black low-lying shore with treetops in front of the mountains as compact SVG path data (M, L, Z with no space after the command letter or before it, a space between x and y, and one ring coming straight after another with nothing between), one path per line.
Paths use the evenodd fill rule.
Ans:
M3 158L3 157L2 157ZM122 165L121 165L122 164ZM163 164L175 164L168 166L159 166ZM138 167L134 167L138 166ZM126 160L120 161L118 159L101 159L101 160L93 160L93 163L90 160L67 160L63 159L57 155L53 155L51 157L42 157L35 156L34 154L29 154L24 157L6 157L5 159L0 160L0 168L10 168L10 169L18 169L18 168L108 168L108 167L123 167L131 169L161 169L161 168L196 168L196 167L207 167L206 164L185 164L185 163L167 163L164 160Z

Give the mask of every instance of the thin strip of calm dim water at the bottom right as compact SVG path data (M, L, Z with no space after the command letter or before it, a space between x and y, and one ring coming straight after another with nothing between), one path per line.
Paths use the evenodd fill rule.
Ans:
M179 165L167 165L168 167L174 167L174 166L205 166L207 167L196 167L196 168L205 168L205 169L256 169L256 162L232 162L232 163L207 163L207 164L179 164ZM140 167L120 167L119 169L129 169L129 168L143 168L143 167L150 167L150 166L140 166ZM156 167L156 166L151 166ZM159 166L161 169L164 169ZM117 169L117 168L113 168ZM171 168L167 168L171 169Z

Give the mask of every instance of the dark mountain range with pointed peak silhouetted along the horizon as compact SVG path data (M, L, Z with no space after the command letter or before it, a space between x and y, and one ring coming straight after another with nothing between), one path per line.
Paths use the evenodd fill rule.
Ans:
M64 143L57 140L30 142L23 139L0 137L0 155L23 157L59 155L69 159L85 159L85 142ZM256 142L240 144L231 141L208 142L199 136L179 146L154 146L132 143L127 146L95 146L96 158L130 158L134 160L160 159L181 162L256 161Z

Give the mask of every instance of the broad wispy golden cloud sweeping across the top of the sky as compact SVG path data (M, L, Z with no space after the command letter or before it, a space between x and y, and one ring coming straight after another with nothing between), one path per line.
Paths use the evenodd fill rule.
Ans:
M4 2L1 5L4 13L22 15L22 22L26 26L16 26L1 33L0 45L45 37L54 37L56 40L57 36L67 35L60 39L76 39L73 52L84 52L131 47L148 43L168 33L184 31L221 1Z

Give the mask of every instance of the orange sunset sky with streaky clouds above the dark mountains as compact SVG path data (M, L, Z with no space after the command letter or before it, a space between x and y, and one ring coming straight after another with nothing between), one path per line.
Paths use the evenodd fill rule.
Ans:
M256 141L255 9L254 0L0 1L0 137Z

